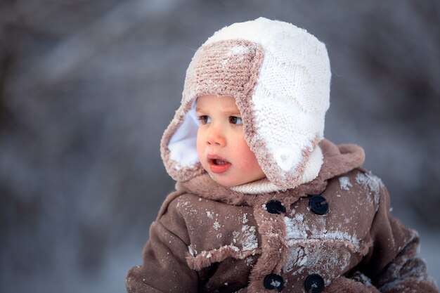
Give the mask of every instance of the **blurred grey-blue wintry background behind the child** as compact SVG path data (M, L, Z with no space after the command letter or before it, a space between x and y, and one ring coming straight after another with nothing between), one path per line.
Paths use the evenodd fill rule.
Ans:
M190 58L259 16L327 44L325 136L365 148L440 280L440 1L1 0L1 293L124 292Z

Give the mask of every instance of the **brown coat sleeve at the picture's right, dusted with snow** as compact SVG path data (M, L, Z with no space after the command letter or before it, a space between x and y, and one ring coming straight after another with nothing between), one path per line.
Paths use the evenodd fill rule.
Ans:
M379 292L439 292L427 274L425 261L418 258L418 233L403 226L389 211L389 194L382 185L370 230L373 247L364 258L363 268L351 280L370 280L365 284Z

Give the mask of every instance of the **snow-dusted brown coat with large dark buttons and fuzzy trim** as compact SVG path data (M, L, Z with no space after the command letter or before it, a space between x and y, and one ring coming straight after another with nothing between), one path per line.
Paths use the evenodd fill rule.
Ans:
M386 188L361 169L363 150L320 146L318 178L293 190L235 193L206 174L177 183L127 291L438 292L416 257L417 233L389 214ZM325 198L325 214L309 205L313 195Z

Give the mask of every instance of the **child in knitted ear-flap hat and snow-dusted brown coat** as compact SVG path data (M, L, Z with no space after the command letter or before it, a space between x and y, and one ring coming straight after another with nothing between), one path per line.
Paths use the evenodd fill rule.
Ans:
M161 143L176 183L128 292L438 292L363 150L323 139L325 45L258 18L216 32Z

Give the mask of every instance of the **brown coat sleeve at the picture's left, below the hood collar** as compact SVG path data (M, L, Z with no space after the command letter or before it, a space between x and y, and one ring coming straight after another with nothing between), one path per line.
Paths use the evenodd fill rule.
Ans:
M150 226L143 264L127 274L128 293L198 291L198 274L186 263L189 245L185 221L173 204Z

